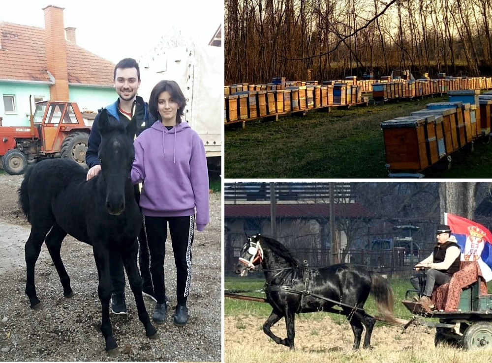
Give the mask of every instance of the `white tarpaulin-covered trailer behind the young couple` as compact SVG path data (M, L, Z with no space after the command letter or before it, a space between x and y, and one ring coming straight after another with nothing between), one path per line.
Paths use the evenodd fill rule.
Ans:
M190 46L144 56L139 61L139 95L149 100L161 80L176 81L186 98L184 117L203 140L207 159L220 166L223 124L223 49Z

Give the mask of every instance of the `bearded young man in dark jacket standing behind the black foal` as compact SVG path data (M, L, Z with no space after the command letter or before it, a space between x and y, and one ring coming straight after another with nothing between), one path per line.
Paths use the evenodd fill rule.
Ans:
M133 58L124 58L118 62L114 70L114 81L118 100L106 107L110 123L122 123L126 125L132 117L132 112L137 117L137 135L153 124L153 119L148 112L148 105L142 97L137 96L140 86L140 68ZM133 107L135 105L135 107ZM101 110L100 110L101 111ZM100 114L100 113L99 113ZM101 134L99 132L99 114L96 115L92 123L89 144L86 153L86 164L89 167L87 180L91 179L101 170L99 161L99 145ZM135 186L135 199L137 204L140 200L139 186ZM138 237L139 243L139 265L142 276L142 292L145 296L151 297L155 301L154 288L149 272L149 253L147 250L147 240L145 231L142 228ZM126 314L126 304L124 296L124 272L121 256L114 254L110 256L111 279L113 281L113 294L111 296L111 310L115 314ZM166 298L167 301L167 298Z

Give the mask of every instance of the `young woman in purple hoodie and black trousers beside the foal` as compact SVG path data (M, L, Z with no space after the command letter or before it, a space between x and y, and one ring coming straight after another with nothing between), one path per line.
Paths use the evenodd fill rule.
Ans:
M186 100L174 81L155 85L149 112L157 119L134 142L134 184L143 182L140 207L150 257L150 272L157 304L156 323L167 315L164 256L167 225L176 263L177 305L174 323L184 326L189 318L186 299L191 279L193 229L203 231L209 223L209 179L205 147L198 134L183 122Z

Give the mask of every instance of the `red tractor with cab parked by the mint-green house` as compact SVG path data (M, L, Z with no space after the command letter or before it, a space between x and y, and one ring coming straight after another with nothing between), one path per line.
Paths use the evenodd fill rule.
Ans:
M7 173L22 174L28 164L59 157L87 167L91 127L85 124L75 102L37 102L30 118L30 126L0 126L1 166Z

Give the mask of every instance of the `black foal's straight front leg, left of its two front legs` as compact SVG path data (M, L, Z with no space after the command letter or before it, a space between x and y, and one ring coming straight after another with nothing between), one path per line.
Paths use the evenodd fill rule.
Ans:
M110 356L116 357L120 354L120 351L113 336L113 328L109 320L109 301L113 291L113 282L109 272L109 251L105 247L93 246L92 249L99 276L97 293L99 294L102 310L101 333L106 341L106 351Z

